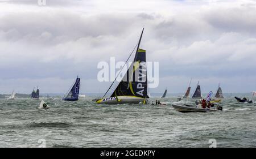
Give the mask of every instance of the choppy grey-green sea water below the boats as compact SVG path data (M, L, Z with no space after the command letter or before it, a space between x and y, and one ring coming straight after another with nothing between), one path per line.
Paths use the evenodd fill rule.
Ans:
M77 102L0 100L0 147L256 147L256 103L222 100L223 112L179 113L167 105L96 105ZM154 99L152 99L154 101Z

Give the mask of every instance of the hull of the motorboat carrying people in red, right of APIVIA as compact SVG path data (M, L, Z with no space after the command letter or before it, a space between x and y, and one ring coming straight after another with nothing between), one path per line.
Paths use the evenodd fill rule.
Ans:
M181 113L189 113L189 112L205 113L205 112L208 112L208 111L219 111L219 110L216 110L216 109L195 108L192 105L185 106L185 105L172 104L172 107L174 107L174 109L176 109L177 111L180 111Z

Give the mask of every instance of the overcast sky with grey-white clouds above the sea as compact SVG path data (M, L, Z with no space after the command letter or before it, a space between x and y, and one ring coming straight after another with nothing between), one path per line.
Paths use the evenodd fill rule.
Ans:
M141 48L159 61L150 92L256 91L256 1L0 0L0 93L105 93L100 61L126 61Z

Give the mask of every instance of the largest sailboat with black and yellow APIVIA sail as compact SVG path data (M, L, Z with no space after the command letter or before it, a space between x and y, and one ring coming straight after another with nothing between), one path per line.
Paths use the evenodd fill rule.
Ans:
M147 95L146 50L139 48L139 45L141 44L143 31L144 31L144 28L142 29L141 37L139 38L134 61L129 67L129 69L127 70L125 76L120 81L118 86L114 89L114 92L112 93L112 95L108 98L104 98L106 93L108 93L109 89L112 87L115 80L117 79L115 78L115 80L110 85L108 91L106 91L104 96L100 100L96 101L97 104L139 104L139 103L146 104L147 103L146 98L148 98L148 95ZM133 54L133 52L134 51L132 51L131 54ZM129 60L129 58L127 59L127 61ZM136 80L135 80L135 77L136 77Z

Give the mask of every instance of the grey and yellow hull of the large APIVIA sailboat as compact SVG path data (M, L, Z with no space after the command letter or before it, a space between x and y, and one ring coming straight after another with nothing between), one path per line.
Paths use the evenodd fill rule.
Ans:
M145 98L135 96L109 97L96 101L97 104L143 104L144 102Z

